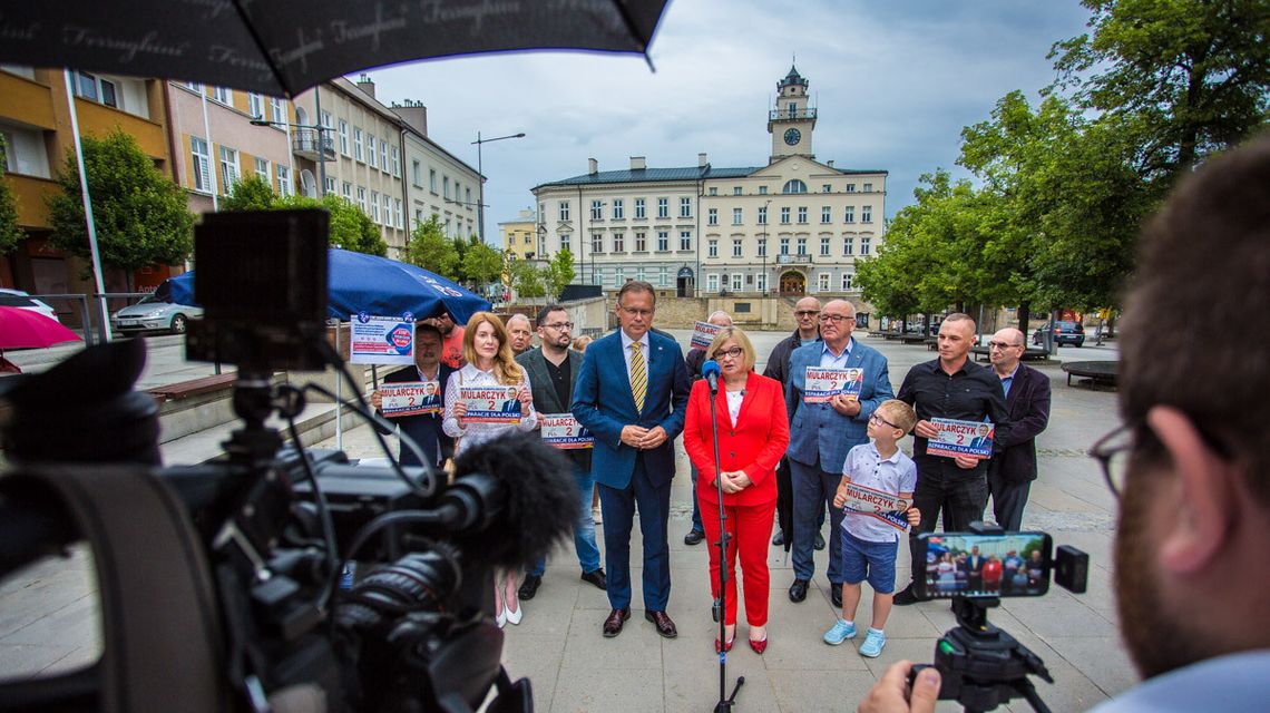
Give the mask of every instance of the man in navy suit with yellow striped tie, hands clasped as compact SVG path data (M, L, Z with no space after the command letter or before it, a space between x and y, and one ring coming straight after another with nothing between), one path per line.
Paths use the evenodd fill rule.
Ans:
M587 347L573 390L573 414L596 437L592 473L605 510L608 602L605 637L621 633L630 618L630 536L639 507L644 538L644 618L657 633L678 632L665 613L671 597L667 521L674 438L683 431L688 370L679 344L650 332L657 295L648 282L630 281L617 292L621 328Z

